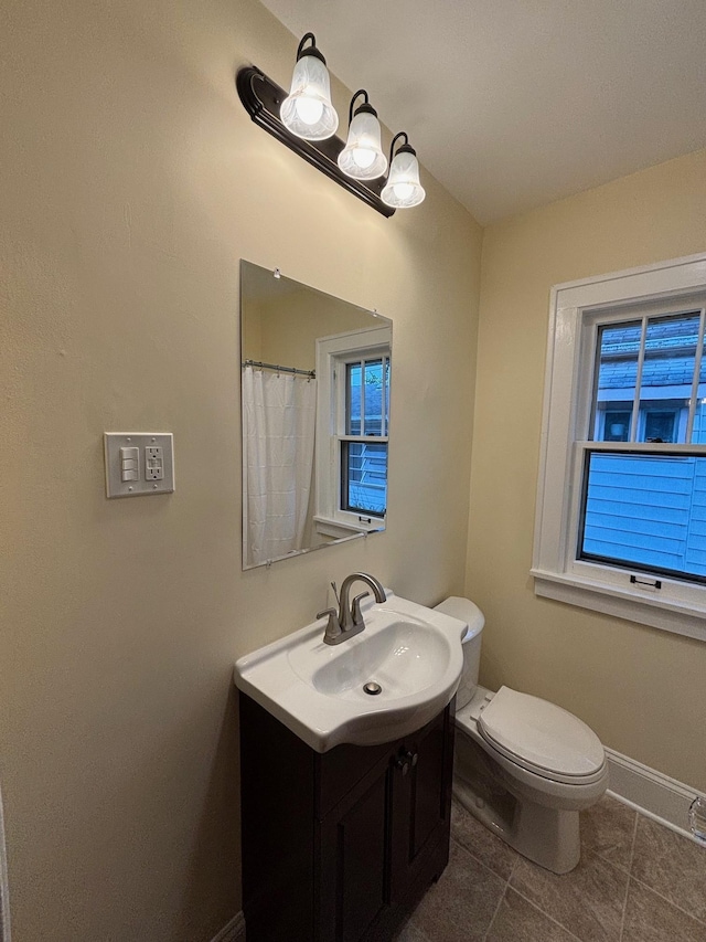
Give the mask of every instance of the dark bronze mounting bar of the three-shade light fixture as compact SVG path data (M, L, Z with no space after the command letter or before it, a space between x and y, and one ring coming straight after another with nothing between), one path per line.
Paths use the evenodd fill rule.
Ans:
M385 186L384 177L378 180L354 180L339 168L339 154L345 147L340 137L304 140L287 130L279 118L279 107L287 97L287 92L264 72L254 65L246 65L238 70L235 84L245 110L256 125L378 213L384 216L393 215L394 208L386 205L379 198Z

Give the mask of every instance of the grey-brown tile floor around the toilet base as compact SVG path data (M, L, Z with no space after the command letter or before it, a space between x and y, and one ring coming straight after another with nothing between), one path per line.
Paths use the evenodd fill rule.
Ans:
M454 802L449 866L396 942L706 942L706 848L606 796L557 877Z

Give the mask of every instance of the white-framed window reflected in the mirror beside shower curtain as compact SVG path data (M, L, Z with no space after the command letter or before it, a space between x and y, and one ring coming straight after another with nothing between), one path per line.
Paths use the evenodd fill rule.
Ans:
M319 532L345 536L385 526L389 425L389 327L317 341Z

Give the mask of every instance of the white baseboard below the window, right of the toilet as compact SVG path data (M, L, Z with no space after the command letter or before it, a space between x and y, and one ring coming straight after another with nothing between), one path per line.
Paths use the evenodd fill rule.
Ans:
M676 779L670 779L613 749L606 749L606 758L610 771L609 794L672 830L696 840L688 827L688 808L694 798L706 798L703 792L689 788Z

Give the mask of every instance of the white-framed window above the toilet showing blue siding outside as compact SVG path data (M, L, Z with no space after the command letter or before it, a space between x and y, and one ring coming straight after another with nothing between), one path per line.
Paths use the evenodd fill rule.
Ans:
M706 641L706 256L552 292L535 592Z

